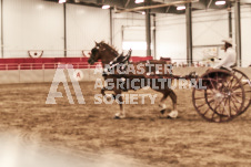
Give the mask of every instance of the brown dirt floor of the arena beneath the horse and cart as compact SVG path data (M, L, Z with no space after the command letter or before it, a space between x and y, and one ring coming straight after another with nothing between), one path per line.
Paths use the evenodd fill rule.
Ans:
M72 85L76 104L69 104L63 85L63 97L46 104L50 86L0 85L1 134L14 132L22 145L36 142L97 163L80 166L251 166L251 108L229 123L209 123L193 108L191 90L175 90L179 117L167 119L159 113L161 94L140 90L129 93L158 94L155 104L145 97L145 104L126 105L127 118L112 119L119 105L94 105L100 90L93 82L80 83L86 104L78 104ZM167 105L171 111L170 98Z

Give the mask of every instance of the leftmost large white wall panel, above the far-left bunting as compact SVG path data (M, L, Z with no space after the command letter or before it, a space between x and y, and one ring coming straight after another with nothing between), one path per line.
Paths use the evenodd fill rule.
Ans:
M4 58L63 56L63 4L42 0L3 0Z

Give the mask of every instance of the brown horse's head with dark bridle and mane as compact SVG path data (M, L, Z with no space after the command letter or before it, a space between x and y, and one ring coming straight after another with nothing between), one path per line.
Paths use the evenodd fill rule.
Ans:
M118 52L104 42L97 43L96 46L91 50L90 59L88 60L89 64L94 64L99 60L102 63L107 64L112 61L118 55Z

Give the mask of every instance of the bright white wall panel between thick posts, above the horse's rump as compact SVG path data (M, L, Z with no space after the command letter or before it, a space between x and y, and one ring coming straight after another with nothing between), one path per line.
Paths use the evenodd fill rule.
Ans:
M173 61L187 59L187 36L184 15L158 15L157 59L171 58Z

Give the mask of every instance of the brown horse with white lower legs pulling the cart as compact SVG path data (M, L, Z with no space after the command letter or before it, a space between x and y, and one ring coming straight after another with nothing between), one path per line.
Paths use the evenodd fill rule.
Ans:
M116 49L113 49L111 45L104 43L104 42L100 42L97 43L96 42L96 46L91 50L91 54L90 54L90 59L88 60L89 64L93 64L94 62L101 60L102 62L102 67L104 69L107 64L109 64L112 60L114 60L114 58L119 56L119 53ZM106 96L106 91L113 91L113 97L118 97L117 101L119 101L119 105L120 105L120 112L116 114L114 118L123 118L126 117L124 111L123 111L123 106L122 106L122 92L123 91L128 91L128 90L139 90L142 88L144 86L150 86L152 90L157 91L157 92L161 92L163 94L163 97L161 98L160 102L160 107L161 107L161 114L164 114L165 109L167 109L167 105L164 104L164 100L170 96L172 100L172 112L169 113L168 117L169 118L174 118L178 115L178 111L177 111L177 95L173 92L173 90L169 88L170 85L168 85L167 83L164 83L164 85L161 85L161 82L158 82L155 79L153 81L153 77L151 76L155 76L159 73L164 73L167 75L171 75L170 72L170 66L168 67L168 65L165 64L164 61L157 61L157 60L152 60L152 61L143 61L143 62L137 62L137 63L130 63L130 65L132 65L133 70L127 70L128 73L127 74L118 74L118 72L116 71L114 74L111 75L106 75L104 81L108 79L112 79L114 82L113 84L116 85L112 90L108 90L108 87L103 87L101 90L101 93L103 96ZM140 66L140 67L139 67ZM157 69L158 66L158 69ZM164 69L165 67L165 69ZM168 67L168 69L167 69ZM168 73L167 73L168 72ZM116 80L121 80L121 77L127 81L130 81L128 83L131 83L131 81L135 80L139 82L133 82L132 86L131 84L129 84L129 86L127 85L127 90L121 88L121 86L118 86L118 82L116 82ZM123 84L123 83L122 83ZM154 84L154 85L153 85ZM126 86L126 83L124 83ZM119 96L117 96L119 95Z

